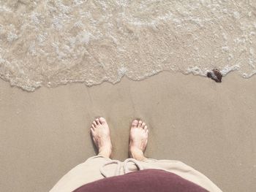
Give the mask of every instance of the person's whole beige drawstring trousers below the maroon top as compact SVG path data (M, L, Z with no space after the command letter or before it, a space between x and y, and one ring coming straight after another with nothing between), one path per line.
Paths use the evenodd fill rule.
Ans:
M197 172L197 170L187 166L181 161L155 160L151 158L145 161L137 161L134 158L127 158L127 160L121 162L97 155L71 169L54 185L50 192L70 192L86 183L91 183L105 177L112 177L143 169L162 169L178 174L185 180L200 185L208 191L221 191L217 185L212 183L205 175Z

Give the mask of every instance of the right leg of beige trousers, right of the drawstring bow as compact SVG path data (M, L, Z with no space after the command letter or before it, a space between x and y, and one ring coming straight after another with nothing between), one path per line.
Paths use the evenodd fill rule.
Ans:
M221 190L204 174L193 169L191 166L182 163L181 161L172 160L155 160L148 158L145 161L139 161L143 169L162 169L167 172L172 172L178 176L189 180L192 183L200 185L211 192L221 192Z

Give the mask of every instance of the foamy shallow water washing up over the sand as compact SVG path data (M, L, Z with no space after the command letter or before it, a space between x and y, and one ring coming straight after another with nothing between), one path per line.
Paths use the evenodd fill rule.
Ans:
M34 91L162 71L256 74L256 1L0 0L0 77Z

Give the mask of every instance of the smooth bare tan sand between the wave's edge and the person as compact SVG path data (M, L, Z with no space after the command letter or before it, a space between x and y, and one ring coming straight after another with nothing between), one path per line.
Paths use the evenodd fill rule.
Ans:
M0 82L1 191L48 191L94 155L89 126L108 120L114 158L128 154L134 118L148 123L146 155L184 161L223 191L256 191L256 78L230 74L222 83L163 72L27 93Z

